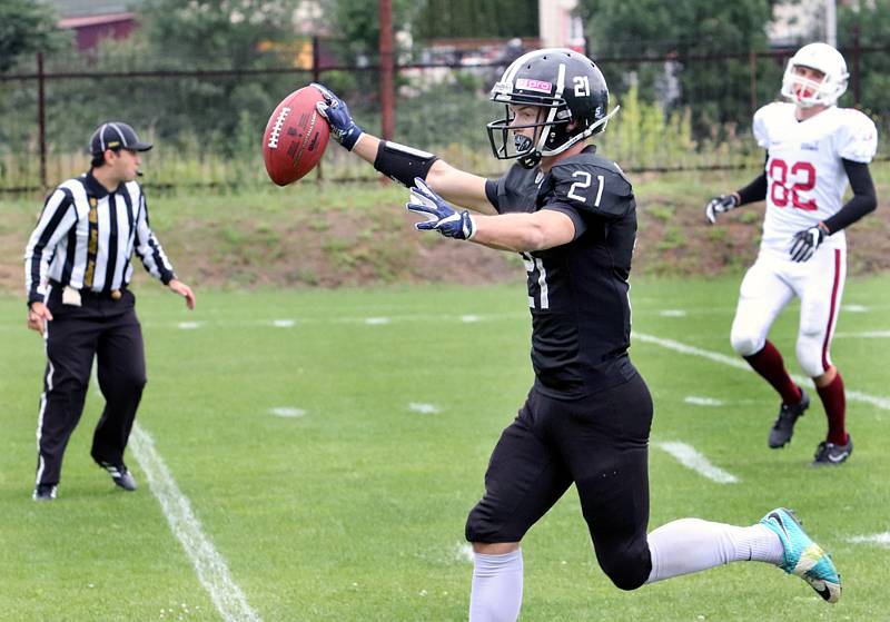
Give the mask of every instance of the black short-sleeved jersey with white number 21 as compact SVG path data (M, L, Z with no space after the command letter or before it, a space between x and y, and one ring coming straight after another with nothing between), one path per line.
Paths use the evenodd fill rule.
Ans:
M515 165L488 180L486 194L501 214L554 209L575 224L571 243L522 253L540 389L580 397L632 377L627 277L636 203L619 166L589 147L547 174Z

